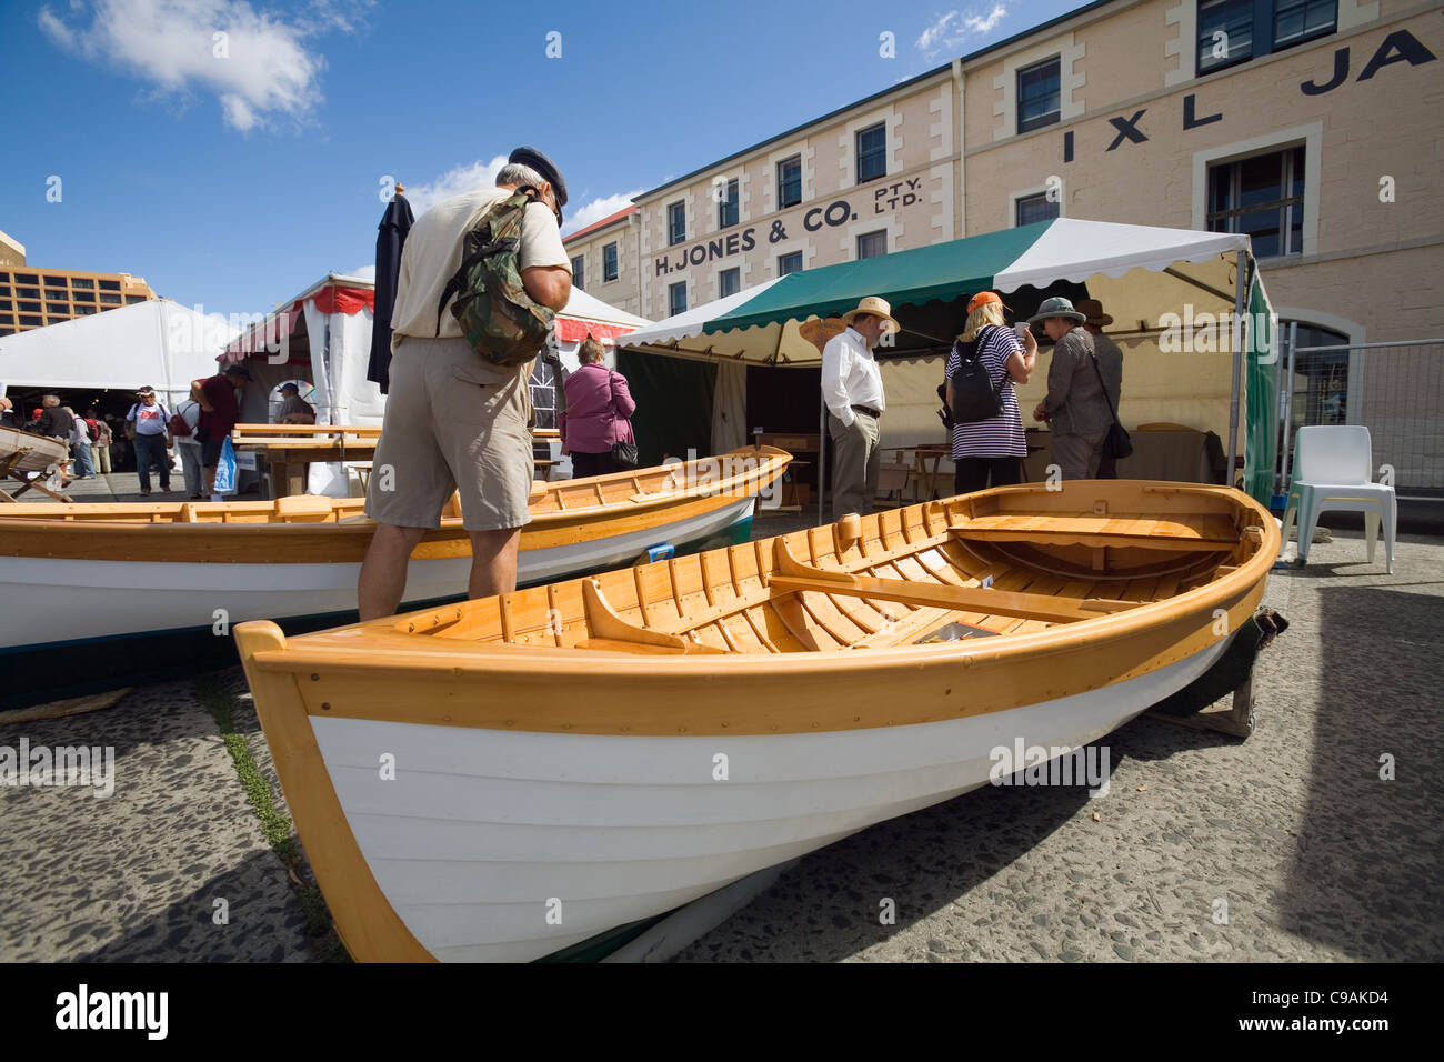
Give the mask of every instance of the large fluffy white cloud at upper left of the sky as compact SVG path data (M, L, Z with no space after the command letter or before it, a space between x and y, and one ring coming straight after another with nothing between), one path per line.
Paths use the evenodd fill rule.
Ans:
M338 10L313 0L287 22L247 0L72 0L64 16L40 7L38 22L58 48L114 64L160 95L214 92L224 123L248 131L271 116L305 120L321 104L326 64L306 39L357 30L373 1Z

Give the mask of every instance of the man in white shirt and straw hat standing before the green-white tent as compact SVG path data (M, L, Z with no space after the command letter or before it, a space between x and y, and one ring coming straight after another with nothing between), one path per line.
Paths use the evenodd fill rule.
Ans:
M822 350L822 394L833 444L832 519L866 516L878 493L878 420L887 403L872 348L897 332L892 308L868 296L842 315L846 328Z

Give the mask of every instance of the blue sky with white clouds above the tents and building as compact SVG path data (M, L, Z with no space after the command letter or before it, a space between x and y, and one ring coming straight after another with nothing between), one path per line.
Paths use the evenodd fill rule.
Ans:
M0 230L261 312L373 262L387 176L426 205L533 143L570 231L1082 3L0 0Z

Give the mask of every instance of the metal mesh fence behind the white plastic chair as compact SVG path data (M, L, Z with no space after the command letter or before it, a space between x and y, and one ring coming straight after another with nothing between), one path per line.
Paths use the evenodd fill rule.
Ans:
M1288 337L1291 338L1291 337ZM1444 498L1444 340L1294 347L1279 358L1279 493L1300 428L1363 425L1401 498Z

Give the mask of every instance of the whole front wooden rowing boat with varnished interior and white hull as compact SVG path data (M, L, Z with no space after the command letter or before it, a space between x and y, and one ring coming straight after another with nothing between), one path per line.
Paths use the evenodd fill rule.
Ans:
M235 637L352 955L533 959L1106 735L1276 553L1233 490L1038 484Z

